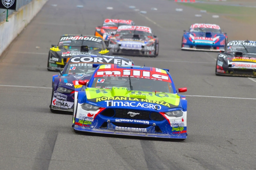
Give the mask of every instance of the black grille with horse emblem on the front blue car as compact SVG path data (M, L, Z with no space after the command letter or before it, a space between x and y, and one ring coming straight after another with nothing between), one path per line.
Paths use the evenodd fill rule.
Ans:
M139 113L133 117L128 112ZM115 109L115 118L151 120L150 111L132 110L132 109Z

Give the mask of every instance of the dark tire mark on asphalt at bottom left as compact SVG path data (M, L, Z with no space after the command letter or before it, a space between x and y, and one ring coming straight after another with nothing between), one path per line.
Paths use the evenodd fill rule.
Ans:
M58 136L58 131L48 130L45 132L45 136L42 141L42 146L35 157L35 162L32 169L48 169L51 162L55 142Z

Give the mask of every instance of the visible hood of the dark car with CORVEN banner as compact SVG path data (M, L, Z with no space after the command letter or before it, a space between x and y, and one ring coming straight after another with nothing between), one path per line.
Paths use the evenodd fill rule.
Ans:
M63 74L61 77L55 78L58 85L64 85L71 88L81 88L83 85L78 84L79 80L89 81L92 74Z

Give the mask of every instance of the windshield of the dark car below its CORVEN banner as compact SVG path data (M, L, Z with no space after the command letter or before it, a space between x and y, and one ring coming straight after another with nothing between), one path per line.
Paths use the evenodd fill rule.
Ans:
M63 74L93 74L95 69L93 63L70 63Z

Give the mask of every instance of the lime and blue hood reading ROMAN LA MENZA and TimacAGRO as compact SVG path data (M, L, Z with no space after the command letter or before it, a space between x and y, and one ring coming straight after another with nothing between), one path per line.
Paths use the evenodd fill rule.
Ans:
M128 90L126 87L112 89L86 88L84 101L97 103L101 107L125 107L133 109L157 110L181 107L177 94ZM89 103L90 103L89 102ZM111 106L110 106L111 105ZM185 108L186 109L186 108Z

